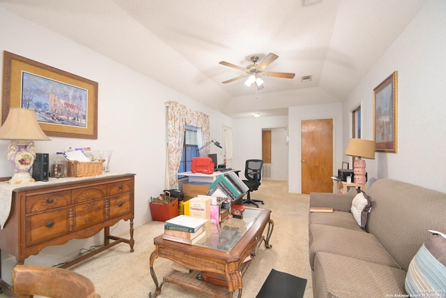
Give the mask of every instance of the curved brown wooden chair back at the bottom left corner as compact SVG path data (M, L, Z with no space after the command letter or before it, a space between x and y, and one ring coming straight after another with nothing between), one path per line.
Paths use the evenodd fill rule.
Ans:
M13 271L13 293L19 298L33 295L50 298L100 298L89 278L68 269L17 265Z

